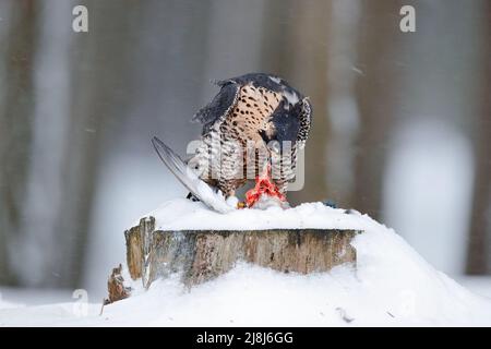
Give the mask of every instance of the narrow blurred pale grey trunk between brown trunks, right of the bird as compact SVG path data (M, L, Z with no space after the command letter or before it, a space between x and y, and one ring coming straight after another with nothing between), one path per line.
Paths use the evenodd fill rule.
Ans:
M350 207L355 181L355 142L359 111L356 83L360 0L333 0L330 22L327 194L339 207Z

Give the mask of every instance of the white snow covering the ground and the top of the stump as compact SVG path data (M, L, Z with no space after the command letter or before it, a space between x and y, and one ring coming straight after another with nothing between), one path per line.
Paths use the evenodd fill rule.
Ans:
M11 326L443 326L491 325L491 300L435 270L393 230L366 215L322 204L282 210L212 213L200 203L172 201L153 213L160 228L345 228L364 232L352 242L357 268L282 274L239 264L219 278L185 289L178 276L104 308L61 303L2 309ZM170 218L171 217L171 218ZM128 279L128 278L127 278ZM86 310L86 313L85 313Z

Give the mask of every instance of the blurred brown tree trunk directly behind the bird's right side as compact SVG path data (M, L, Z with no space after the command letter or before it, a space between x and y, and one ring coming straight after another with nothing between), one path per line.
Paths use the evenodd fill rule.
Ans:
M271 73L280 75L309 96L313 105L313 124L304 157L308 177L302 190L289 193L291 203L321 201L327 195L330 17L331 1L324 0L271 1L266 10L265 65Z

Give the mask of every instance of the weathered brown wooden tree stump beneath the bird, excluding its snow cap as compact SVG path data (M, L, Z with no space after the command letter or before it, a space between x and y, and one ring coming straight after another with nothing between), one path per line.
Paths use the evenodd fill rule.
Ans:
M131 278L148 288L157 278L180 273L187 286L213 279L239 261L284 273L327 272L356 264L350 242L356 230L155 230L155 218L142 218L124 232Z

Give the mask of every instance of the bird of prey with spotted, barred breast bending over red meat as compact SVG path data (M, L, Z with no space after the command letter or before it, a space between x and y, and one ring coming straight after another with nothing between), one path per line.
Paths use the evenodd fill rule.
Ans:
M243 206L254 206L263 194L286 202L297 152L304 147L312 123L309 98L265 73L216 84L218 94L193 118L203 124L202 143L188 166L225 197L255 179Z

